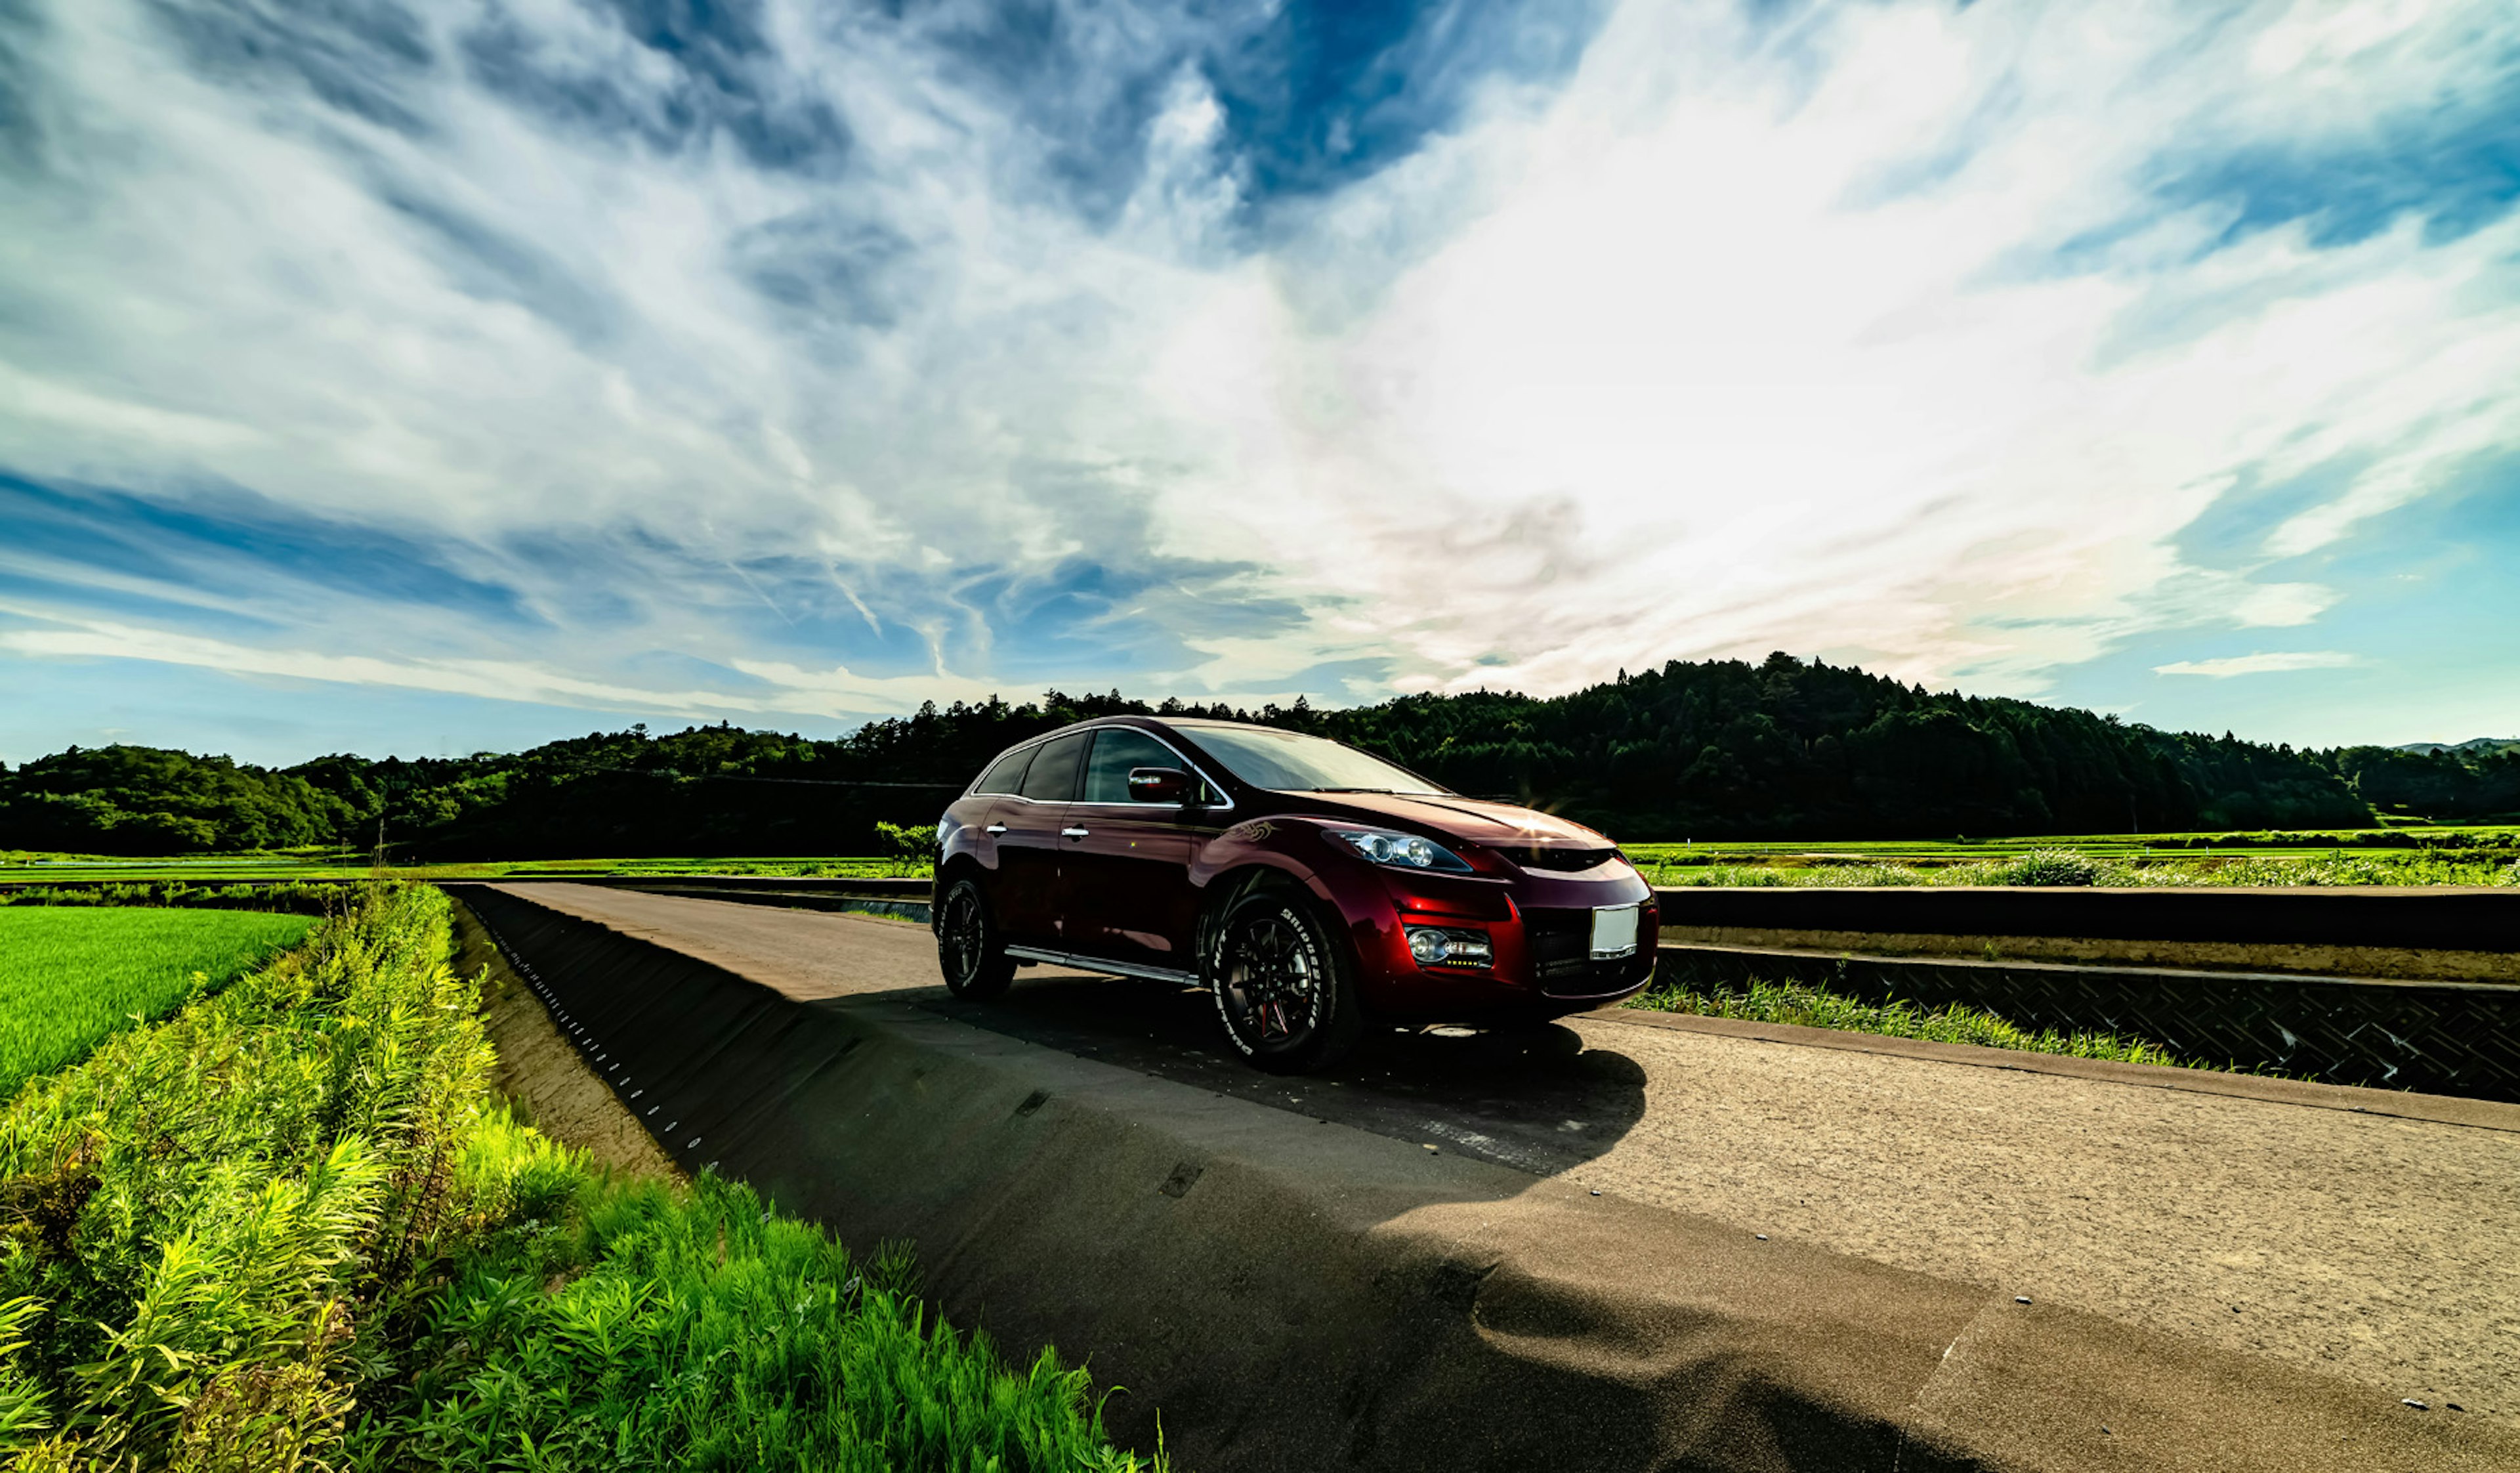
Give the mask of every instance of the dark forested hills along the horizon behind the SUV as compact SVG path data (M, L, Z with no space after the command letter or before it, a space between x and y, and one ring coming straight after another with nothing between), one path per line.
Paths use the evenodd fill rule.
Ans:
M1792 656L1673 661L1570 696L1401 696L1358 709L1184 706L1051 691L927 706L834 742L643 726L517 754L323 757L285 772L149 747L0 772L0 847L194 853L345 842L396 858L864 853L980 764L1114 711L1268 721L1356 742L1459 792L1620 840L1950 837L2359 827L2374 807L2520 815L2520 752L2293 752L2029 701L1928 694Z

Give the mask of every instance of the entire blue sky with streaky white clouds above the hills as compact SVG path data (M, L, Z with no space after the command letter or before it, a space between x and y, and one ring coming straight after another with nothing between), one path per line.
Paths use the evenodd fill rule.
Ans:
M1769 651L2520 734L2507 0L0 0L0 762Z

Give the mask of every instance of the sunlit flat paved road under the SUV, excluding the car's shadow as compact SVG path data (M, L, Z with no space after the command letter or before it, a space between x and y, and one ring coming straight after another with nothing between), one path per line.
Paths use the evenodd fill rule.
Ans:
M925 928L512 885L794 999L948 1016L1898 1269L2520 1425L2520 1130L1572 1019L1404 1037L1326 1080L1222 1057L1205 994L1026 969L937 986ZM1580 1044L1580 1052L1578 1052Z

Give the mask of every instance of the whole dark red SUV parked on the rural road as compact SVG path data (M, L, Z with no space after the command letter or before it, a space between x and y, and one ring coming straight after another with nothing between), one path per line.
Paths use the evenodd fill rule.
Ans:
M990 762L937 837L955 994L1026 961L1207 986L1265 1069L1318 1069L1373 1022L1537 1022L1653 976L1653 890L1610 840L1273 726L1066 726Z

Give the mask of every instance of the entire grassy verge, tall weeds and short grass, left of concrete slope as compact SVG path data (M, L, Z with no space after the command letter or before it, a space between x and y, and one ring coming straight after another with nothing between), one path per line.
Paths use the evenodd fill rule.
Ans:
M15 1468L1137 1468L1086 1380L925 1319L741 1185L607 1178L489 1105L446 898L0 1110Z

